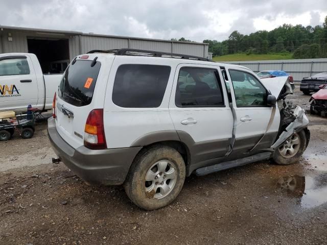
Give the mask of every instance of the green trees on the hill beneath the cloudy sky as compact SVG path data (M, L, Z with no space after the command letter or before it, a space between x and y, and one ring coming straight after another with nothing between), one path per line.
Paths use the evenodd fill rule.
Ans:
M184 41L185 38L179 40ZM189 40L186 40L189 41ZM234 53L267 54L268 52L294 52L294 58L327 57L327 16L321 26L283 24L271 31L258 31L243 35L235 30L227 40L204 40L214 56ZM313 45L315 44L315 45Z

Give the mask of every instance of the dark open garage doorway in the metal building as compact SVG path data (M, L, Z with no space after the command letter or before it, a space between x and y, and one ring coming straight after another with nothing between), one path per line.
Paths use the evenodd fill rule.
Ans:
M68 39L27 39L29 53L39 59L44 74L63 73L69 64Z

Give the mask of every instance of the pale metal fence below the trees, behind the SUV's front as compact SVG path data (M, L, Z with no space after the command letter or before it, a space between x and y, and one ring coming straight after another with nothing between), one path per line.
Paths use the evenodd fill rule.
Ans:
M261 70L284 70L294 81L310 77L320 72L327 72L327 59L298 59L298 60L258 60L258 61L226 61L223 63L246 66L254 72Z

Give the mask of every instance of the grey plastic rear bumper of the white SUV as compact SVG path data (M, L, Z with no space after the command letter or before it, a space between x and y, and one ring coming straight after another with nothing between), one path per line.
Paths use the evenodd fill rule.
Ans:
M48 136L57 156L77 176L90 184L123 184L134 157L142 147L90 150L72 148L58 134L53 117L48 119Z

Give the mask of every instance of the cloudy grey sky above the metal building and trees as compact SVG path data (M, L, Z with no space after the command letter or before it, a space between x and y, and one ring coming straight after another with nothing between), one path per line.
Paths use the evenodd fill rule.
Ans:
M1 0L0 25L194 41L283 23L316 26L327 0Z

